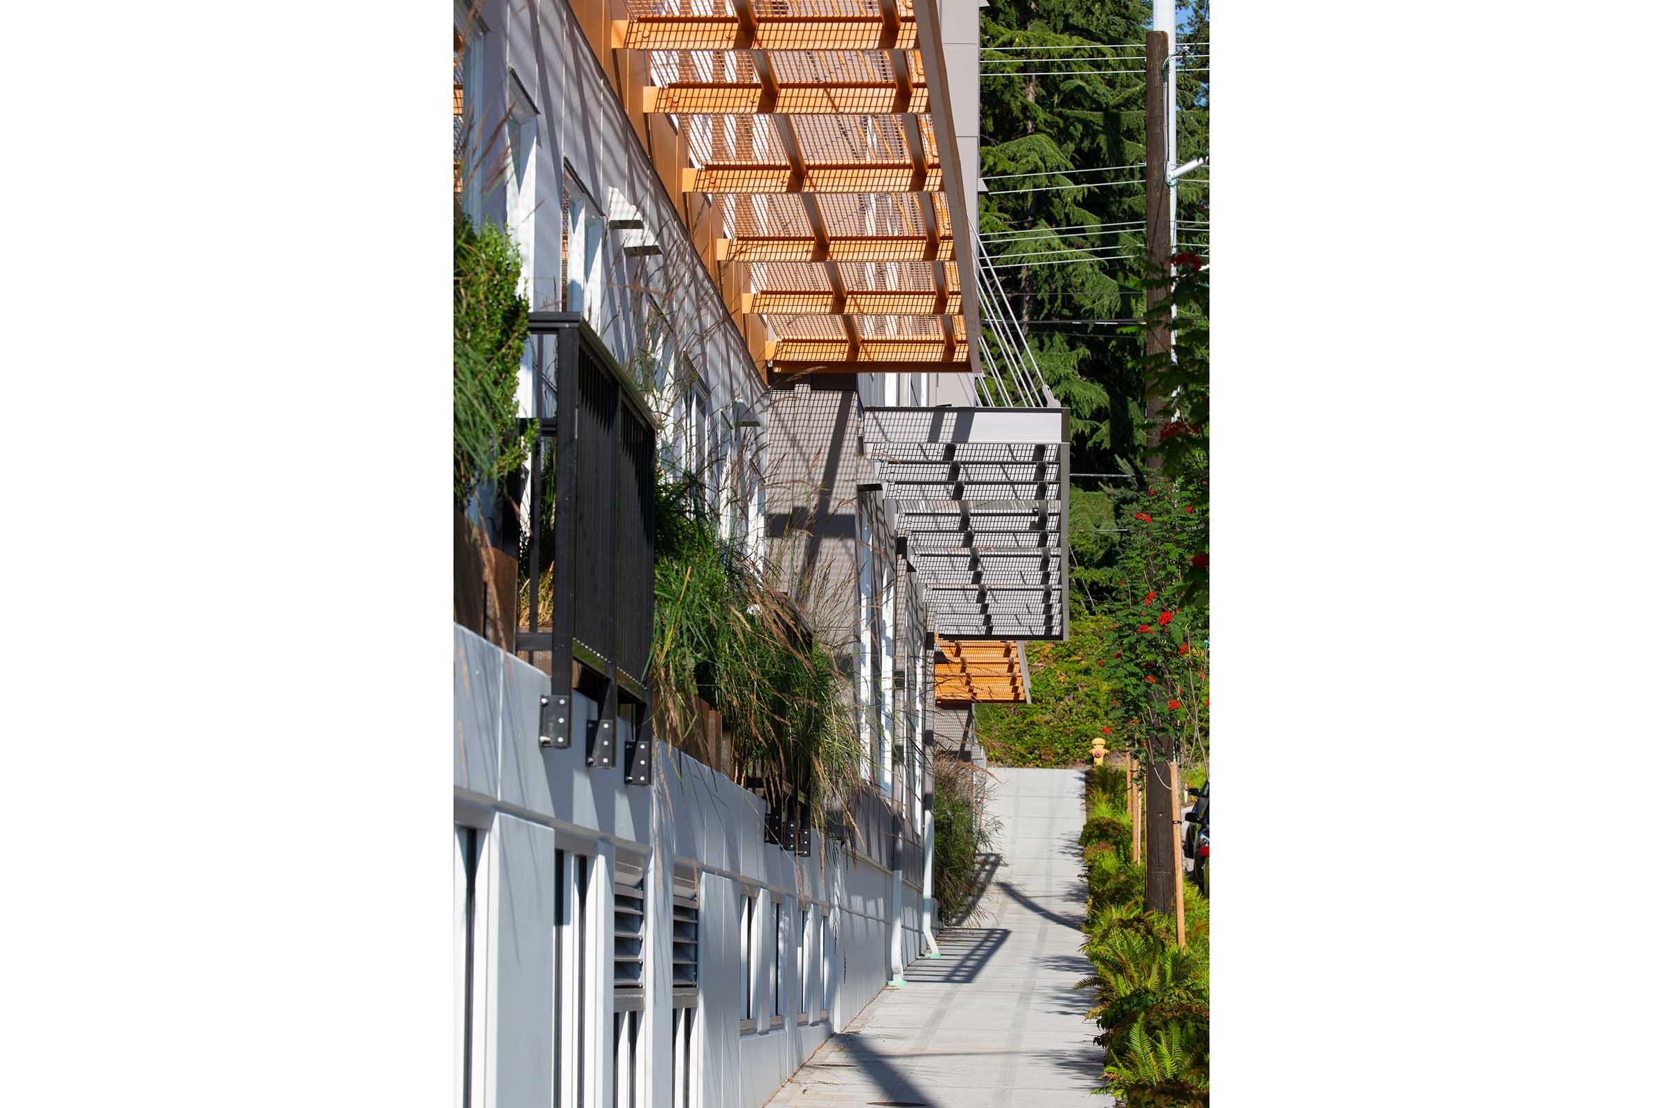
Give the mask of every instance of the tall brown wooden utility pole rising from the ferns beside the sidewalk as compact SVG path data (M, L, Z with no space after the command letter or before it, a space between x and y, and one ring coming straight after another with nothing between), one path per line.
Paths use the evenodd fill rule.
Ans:
M1176 30L1176 13L1172 0L1156 0L1154 30L1144 37L1144 246L1147 251L1149 274L1162 277L1162 282L1147 292L1147 309L1151 326L1144 332L1144 354L1172 355L1171 326L1171 266L1172 266L1172 194L1174 186L1167 184L1169 136L1176 145L1176 135L1169 131L1169 103L1174 86L1167 68L1167 45ZM1144 395L1144 414L1152 420L1166 410L1167 397L1159 390ZM1159 470L1161 460L1152 453L1159 444L1159 430L1149 429L1149 470ZM1144 789L1144 909L1149 912L1174 914L1177 910L1177 859L1162 844L1174 836L1172 821L1177 819L1174 804L1176 781L1154 781L1161 776L1161 766L1172 774L1176 748L1171 736L1156 731L1154 749L1144 761L1151 776ZM1164 787L1162 787L1164 786Z

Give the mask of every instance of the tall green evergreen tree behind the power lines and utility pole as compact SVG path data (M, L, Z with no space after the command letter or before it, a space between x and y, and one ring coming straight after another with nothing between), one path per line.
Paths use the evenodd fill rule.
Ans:
M983 10L981 173L991 179L980 229L1041 374L1073 410L1074 472L1134 477L1071 490L1079 615L1114 561L1116 495L1146 483L1144 395L1161 375L1142 357L1141 329L1121 322L1142 321L1147 287L1137 163L1149 25L1144 0L993 0ZM1207 153L1209 0L1181 5L1177 27L1182 163ZM1104 166L1116 168L1059 173ZM1179 186L1179 244L1207 243L1206 176ZM1204 252L1194 246L1174 249Z

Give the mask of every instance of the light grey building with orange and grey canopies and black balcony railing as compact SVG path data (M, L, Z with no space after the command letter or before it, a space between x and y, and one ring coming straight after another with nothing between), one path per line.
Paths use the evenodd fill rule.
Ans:
M975 239L978 22L459 0L457 206L519 246L540 434L474 505L529 566L512 643L456 628L457 1105L757 1108L931 945L938 669L961 756L1066 635L1068 415ZM652 733L665 473L838 658L830 837Z

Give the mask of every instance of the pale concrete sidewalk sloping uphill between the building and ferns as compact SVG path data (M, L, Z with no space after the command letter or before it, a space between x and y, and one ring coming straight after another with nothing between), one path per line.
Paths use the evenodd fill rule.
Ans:
M1001 821L981 914L938 935L940 958L906 967L768 1101L770 1108L918 1105L1068 1108L1093 1096L1103 1050L1073 985L1086 890L1078 769L994 769Z

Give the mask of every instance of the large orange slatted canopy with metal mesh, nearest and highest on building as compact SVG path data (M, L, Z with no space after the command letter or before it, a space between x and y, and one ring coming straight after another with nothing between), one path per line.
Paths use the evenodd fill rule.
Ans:
M649 53L642 110L672 121L692 163L679 184L713 206L715 261L738 269L733 307L763 324L770 374L970 372L913 0L627 12L612 42Z

